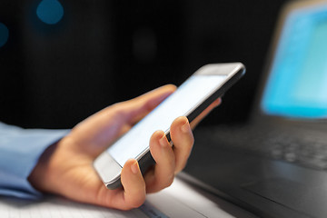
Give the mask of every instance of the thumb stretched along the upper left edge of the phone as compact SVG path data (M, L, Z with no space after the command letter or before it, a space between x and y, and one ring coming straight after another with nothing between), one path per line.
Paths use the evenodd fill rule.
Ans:
M155 106L175 91L172 84L164 85L132 100L113 104L77 124L71 136L85 144L92 154L100 154L118 136L128 131L135 123L151 112ZM96 146L90 146L90 145Z

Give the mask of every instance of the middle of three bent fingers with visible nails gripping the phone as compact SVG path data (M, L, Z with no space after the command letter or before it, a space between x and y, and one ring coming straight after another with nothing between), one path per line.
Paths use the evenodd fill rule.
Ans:
M145 174L146 192L155 193L173 183L175 158L171 144L163 133L156 131L150 139L154 170Z

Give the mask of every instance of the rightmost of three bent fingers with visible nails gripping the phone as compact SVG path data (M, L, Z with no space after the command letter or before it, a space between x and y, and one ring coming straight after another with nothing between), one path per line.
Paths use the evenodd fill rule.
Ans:
M185 167L194 143L193 133L187 118L184 116L176 118L171 125L170 134L176 164L174 173L179 173Z

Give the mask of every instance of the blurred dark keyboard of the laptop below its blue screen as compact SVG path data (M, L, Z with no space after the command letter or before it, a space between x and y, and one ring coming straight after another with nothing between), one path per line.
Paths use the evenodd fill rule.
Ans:
M213 133L208 131L207 133ZM246 153L327 170L327 134L290 130L225 128L215 131L215 144Z

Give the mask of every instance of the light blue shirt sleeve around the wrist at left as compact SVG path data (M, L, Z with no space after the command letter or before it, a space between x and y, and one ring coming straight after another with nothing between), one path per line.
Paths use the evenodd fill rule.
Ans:
M0 122L0 195L37 199L27 181L45 149L69 130L23 129Z

